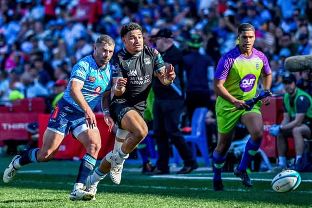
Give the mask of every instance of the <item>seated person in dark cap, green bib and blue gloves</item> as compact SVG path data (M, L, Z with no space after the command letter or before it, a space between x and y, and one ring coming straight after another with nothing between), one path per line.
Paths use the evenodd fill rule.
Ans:
M296 160L291 169L296 170L304 151L304 139L311 139L312 131L312 97L297 87L293 74L283 76L286 94L283 98L283 120L274 124L270 134L277 136L278 165L271 171L279 172L287 168L287 138L293 137Z

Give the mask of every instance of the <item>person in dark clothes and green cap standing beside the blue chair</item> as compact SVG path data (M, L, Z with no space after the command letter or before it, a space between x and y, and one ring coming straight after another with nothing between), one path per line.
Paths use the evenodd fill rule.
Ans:
M198 48L203 44L202 38L193 35L187 45L190 54L183 57L183 70L186 72L186 106L190 121L198 107L211 109L211 86L214 78L214 61L208 55L201 55Z

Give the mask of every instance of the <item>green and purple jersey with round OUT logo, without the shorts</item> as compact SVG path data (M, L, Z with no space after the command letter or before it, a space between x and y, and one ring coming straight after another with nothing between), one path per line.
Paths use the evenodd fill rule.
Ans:
M258 78L263 69L270 74L267 57L253 48L253 54L241 54L238 45L226 53L218 62L215 78L225 80L223 86L238 100L248 100L255 96Z

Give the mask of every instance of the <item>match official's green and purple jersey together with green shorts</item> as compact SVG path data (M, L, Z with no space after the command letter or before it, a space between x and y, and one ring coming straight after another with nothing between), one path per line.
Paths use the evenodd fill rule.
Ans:
M218 62L215 78L225 80L223 86L238 100L248 100L255 96L261 71L270 74L267 57L253 48L253 54L246 57L240 53L238 46L226 53ZM218 131L227 133L234 129L238 120L246 113L259 113L262 101L257 102L251 111L235 111L232 103L218 96L215 113Z

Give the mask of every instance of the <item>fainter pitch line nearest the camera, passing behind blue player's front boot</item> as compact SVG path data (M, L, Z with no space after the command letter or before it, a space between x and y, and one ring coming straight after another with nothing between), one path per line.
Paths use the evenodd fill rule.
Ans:
M20 180L22 183L31 183L31 184L59 184L59 185L74 185L72 182L49 182L49 181L34 181L34 180ZM134 189L169 189L169 190L211 190L212 188L186 188L186 187L164 187L164 186L141 186L141 185L110 185L110 184L98 184L98 187L114 187L114 188L134 188ZM251 192L254 191L253 189L225 189L226 191L243 191L243 192ZM264 190L265 192L274 192L271 189ZM306 191L306 190L295 190L298 193L309 193L311 194L312 191Z

